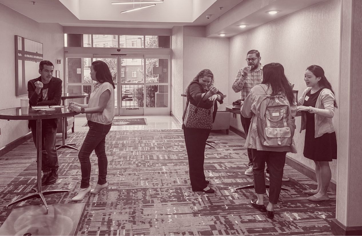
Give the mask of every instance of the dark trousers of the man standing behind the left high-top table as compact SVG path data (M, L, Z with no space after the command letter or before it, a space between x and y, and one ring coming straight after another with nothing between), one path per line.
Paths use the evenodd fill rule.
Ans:
M37 124L30 125L31 134L35 147L37 146ZM50 172L51 169L58 170L58 154L55 148L56 125L42 121L42 171Z

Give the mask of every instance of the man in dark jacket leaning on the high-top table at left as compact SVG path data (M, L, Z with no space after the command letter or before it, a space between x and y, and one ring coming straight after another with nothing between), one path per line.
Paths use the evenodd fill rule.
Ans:
M28 96L30 106L60 105L62 97L62 80L53 77L54 65L50 61L41 61L39 76L28 81ZM55 148L55 136L59 119L42 120L42 185L54 184L58 179L58 154ZM37 145L37 123L29 120L29 128L33 141Z

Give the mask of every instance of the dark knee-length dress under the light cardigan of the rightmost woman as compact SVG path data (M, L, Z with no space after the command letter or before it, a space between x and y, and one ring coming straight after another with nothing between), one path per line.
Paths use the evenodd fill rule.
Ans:
M303 106L315 107L317 98L322 89L313 94L311 94L311 90L309 90L306 94L306 98L308 97L308 99L304 99ZM336 132L325 133L322 136L315 138L314 113L309 113L308 111L305 113L307 116L307 123L303 155L306 158L317 162L331 162L332 159L337 159Z

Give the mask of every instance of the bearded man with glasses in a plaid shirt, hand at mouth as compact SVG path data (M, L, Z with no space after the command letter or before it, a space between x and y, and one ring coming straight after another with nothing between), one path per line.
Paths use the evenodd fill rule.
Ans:
M250 50L247 53L248 66L241 68L236 75L235 81L232 84L232 89L235 93L240 92L240 99L244 101L250 93L250 90L255 85L258 85L263 80L263 65L260 63L261 57L258 50ZM248 136L251 118L245 118L240 115L241 125L243 126L245 137ZM253 157L251 149L248 148L249 168L245 171L245 175L253 175Z

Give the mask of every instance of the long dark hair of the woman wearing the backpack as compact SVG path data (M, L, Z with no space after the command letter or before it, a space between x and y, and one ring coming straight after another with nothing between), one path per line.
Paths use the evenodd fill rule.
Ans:
M283 94L287 97L289 104L295 102L292 86L284 74L284 67L280 63L269 63L263 67L263 81L271 87L271 95Z

